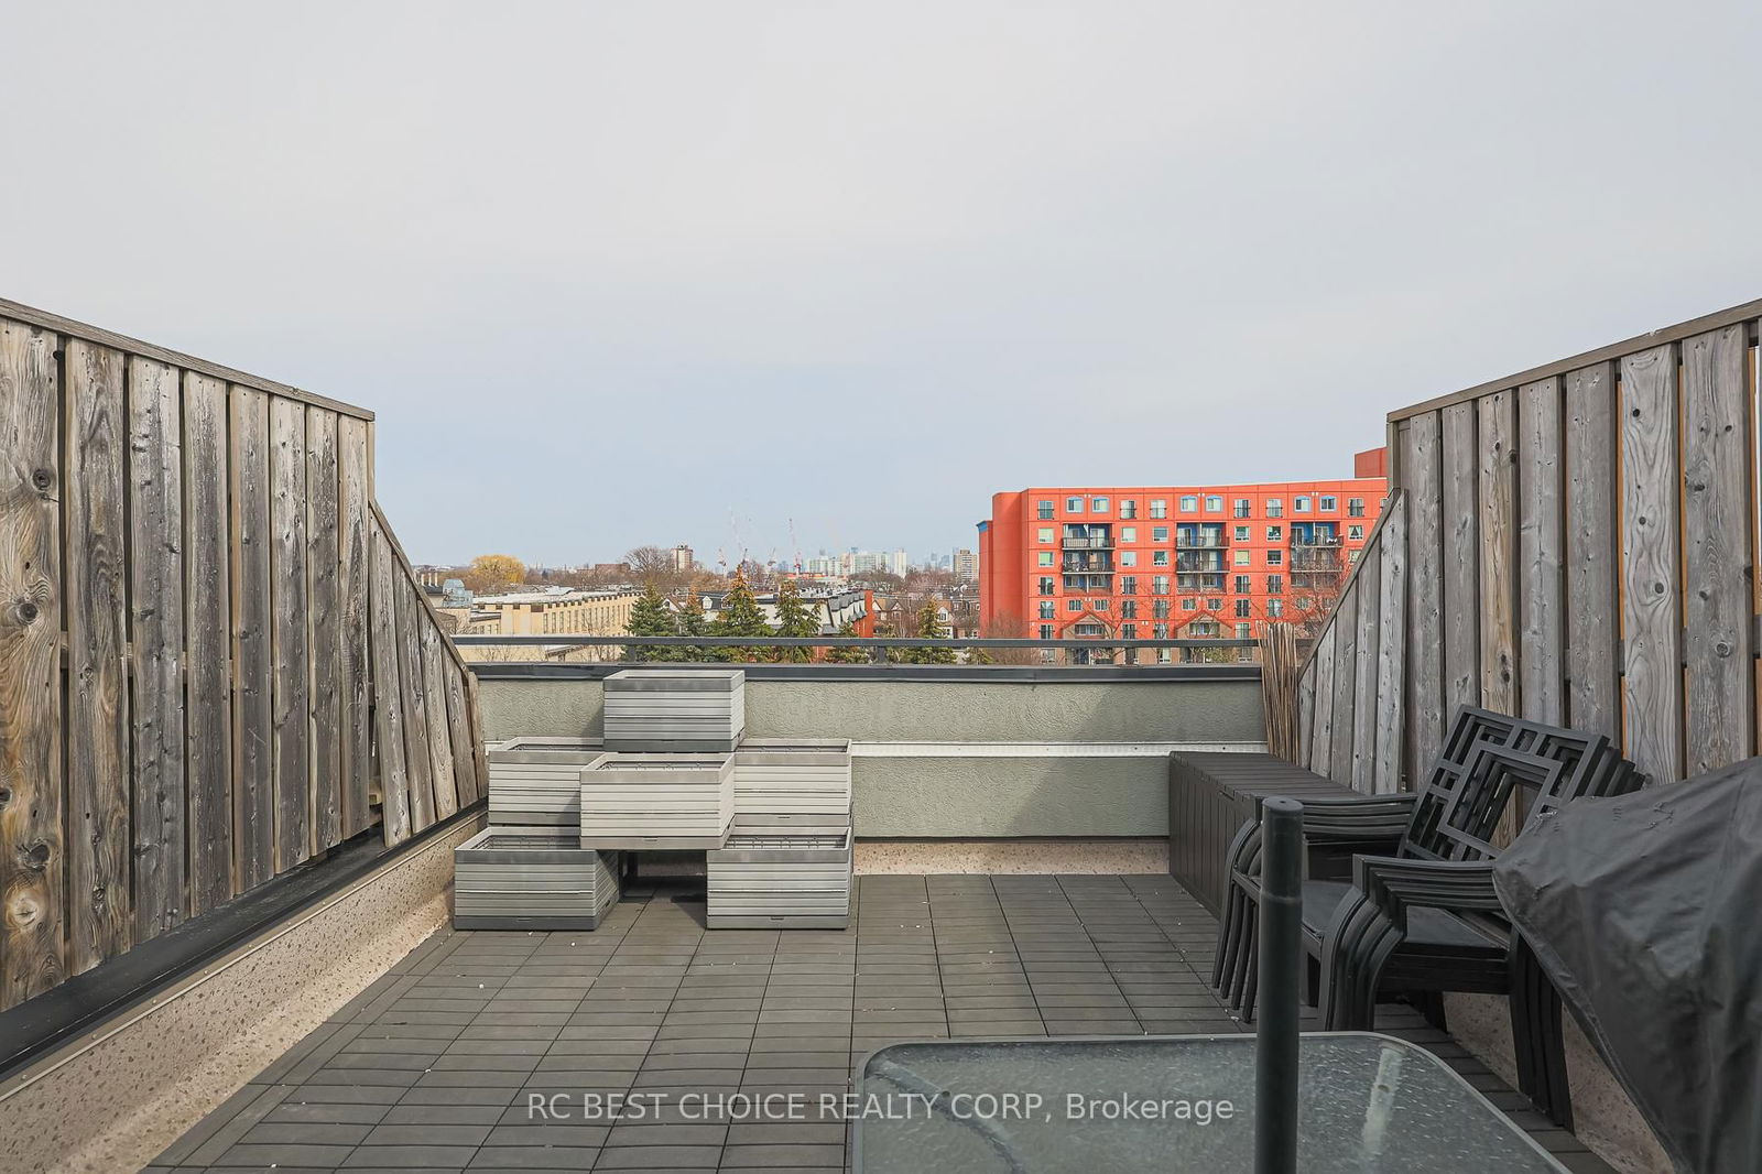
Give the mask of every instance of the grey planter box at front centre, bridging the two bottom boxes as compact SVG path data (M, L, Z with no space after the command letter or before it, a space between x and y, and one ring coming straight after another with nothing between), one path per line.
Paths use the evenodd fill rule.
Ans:
M587 848L721 848L735 821L733 754L601 754L580 772Z

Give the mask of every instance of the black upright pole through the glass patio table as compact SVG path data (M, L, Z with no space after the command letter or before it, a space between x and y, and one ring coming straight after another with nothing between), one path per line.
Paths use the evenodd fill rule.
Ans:
M1304 806L1260 806L1260 1024L1255 1174L1297 1174L1297 996L1304 950Z

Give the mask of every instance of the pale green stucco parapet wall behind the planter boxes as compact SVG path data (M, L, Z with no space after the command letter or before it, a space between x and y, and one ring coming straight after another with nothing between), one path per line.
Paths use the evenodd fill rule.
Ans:
M749 679L747 737L863 744L853 763L863 837L1166 836L1166 753L1136 747L1260 746L1260 682L1131 672L1073 682ZM486 679L479 693L490 740L601 733L599 680Z

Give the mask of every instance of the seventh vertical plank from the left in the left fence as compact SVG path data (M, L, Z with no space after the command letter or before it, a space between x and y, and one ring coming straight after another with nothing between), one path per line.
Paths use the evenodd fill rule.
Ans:
M307 636L312 647L312 843L342 843L342 599L337 412L307 409ZM359 710L365 712L365 710Z

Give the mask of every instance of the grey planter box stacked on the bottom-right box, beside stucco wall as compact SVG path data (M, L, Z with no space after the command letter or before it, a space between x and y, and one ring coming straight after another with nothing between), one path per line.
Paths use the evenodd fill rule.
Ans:
M849 742L742 742L735 751L735 834L849 825Z

